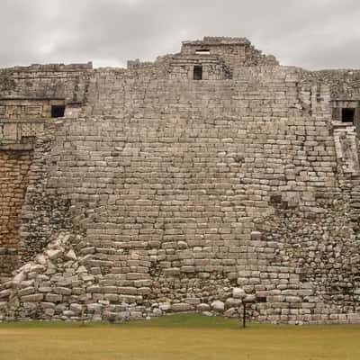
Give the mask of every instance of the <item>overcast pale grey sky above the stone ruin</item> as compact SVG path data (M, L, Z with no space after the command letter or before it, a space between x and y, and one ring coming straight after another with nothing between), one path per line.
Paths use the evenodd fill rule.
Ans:
M0 0L0 67L123 67L182 40L247 37L284 65L360 68L359 0Z

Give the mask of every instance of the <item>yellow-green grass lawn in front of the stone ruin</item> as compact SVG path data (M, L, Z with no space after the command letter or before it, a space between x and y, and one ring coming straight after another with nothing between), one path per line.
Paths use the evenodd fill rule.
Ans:
M124 324L0 324L0 360L360 359L360 325L272 326L201 315Z

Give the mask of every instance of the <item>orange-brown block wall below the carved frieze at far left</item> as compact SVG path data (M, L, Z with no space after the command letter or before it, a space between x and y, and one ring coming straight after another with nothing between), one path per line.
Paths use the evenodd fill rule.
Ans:
M19 266L20 211L31 158L31 151L0 150L0 281Z

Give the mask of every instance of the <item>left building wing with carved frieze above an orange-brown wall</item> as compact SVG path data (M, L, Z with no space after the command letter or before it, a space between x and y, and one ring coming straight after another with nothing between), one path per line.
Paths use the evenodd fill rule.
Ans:
M37 169L43 166L32 164L33 142L43 134L51 117L80 111L91 69L91 64L73 64L0 70L0 253L4 260L1 261L1 278L11 275L23 252L20 227L29 222L26 216L21 218L27 186L31 183L36 188L44 181L36 176ZM57 109L60 114L54 113ZM31 203L29 206L33 211ZM39 207L37 209L40 211ZM25 243L29 253L31 250L37 253L41 248L38 236L37 244L26 240ZM28 259L22 257L23 261Z

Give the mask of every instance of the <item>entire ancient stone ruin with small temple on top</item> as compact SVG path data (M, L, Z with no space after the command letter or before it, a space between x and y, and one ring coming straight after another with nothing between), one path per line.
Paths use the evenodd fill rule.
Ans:
M207 37L0 95L0 320L360 321L360 70Z

